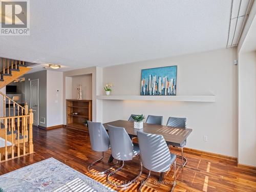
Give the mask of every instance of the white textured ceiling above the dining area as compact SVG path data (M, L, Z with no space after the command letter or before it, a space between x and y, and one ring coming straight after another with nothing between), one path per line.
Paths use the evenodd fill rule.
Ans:
M230 0L33 0L30 36L0 36L0 56L58 63L67 71L225 48L230 5Z

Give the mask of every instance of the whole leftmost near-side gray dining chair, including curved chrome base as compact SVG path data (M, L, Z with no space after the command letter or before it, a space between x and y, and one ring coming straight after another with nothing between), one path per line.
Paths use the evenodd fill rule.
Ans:
M89 135L90 135L92 150L95 152L102 152L101 158L88 166L88 171L92 175L103 175L103 174L109 172L109 170L111 168L113 168L114 166L104 170L103 172L92 172L90 169L96 163L101 161L104 157L104 152L109 150L109 147L110 147L109 135L108 135L108 133L106 133L106 130L105 130L104 126L102 125L102 123L92 122L92 121L87 121L87 123L88 123L88 128L89 128Z

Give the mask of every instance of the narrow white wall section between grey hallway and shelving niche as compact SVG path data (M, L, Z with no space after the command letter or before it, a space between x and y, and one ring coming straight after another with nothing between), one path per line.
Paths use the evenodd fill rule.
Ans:
M63 124L62 76L47 70L47 127Z

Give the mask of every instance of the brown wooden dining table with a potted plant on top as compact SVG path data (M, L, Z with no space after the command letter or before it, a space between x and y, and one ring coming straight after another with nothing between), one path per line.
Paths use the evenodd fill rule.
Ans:
M158 134L162 135L167 144L179 146L183 143L189 134L192 132L192 129L184 129L179 127L172 127L166 125L157 125L157 124L149 124L143 123L143 129L134 129L134 122L126 121L126 120L117 120L111 121L108 123L104 123L103 126L106 130L108 130L107 125L124 127L126 132L130 137L137 137L137 131L142 131L150 134ZM113 157L111 156L109 159L109 163L113 161ZM163 180L164 173L160 174L159 181Z

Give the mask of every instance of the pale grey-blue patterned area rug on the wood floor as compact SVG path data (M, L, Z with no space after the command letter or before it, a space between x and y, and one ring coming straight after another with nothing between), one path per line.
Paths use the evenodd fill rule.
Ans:
M115 191L77 170L49 158L0 176L0 190L12 191Z

